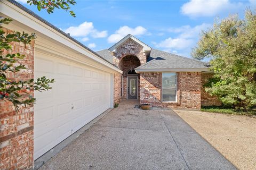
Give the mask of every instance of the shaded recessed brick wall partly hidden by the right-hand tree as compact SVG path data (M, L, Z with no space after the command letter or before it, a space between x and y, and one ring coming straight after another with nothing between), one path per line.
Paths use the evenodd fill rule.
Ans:
M218 100L216 96L209 95L204 88L204 84L208 81L209 78L212 78L212 73L204 73L202 74L201 79L201 105L202 106L220 106L221 102Z

